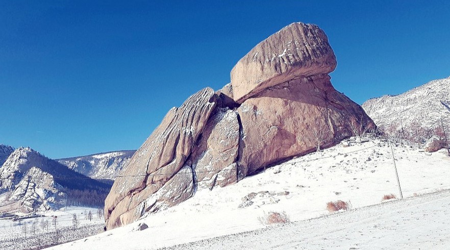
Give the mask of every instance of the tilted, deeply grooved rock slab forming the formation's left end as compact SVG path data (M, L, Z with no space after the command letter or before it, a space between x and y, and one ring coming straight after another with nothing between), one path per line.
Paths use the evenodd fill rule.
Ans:
M105 200L106 228L128 224L144 212L178 204L193 194L193 172L184 166L216 107L205 88L172 108L133 155Z

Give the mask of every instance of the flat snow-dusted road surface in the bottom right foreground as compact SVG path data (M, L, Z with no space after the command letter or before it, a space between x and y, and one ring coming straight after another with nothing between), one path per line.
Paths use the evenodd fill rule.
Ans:
M448 249L450 191L169 249Z

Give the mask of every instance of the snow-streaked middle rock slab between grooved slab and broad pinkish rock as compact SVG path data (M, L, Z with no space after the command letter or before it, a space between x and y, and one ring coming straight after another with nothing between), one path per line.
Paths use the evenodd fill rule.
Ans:
M236 113L228 108L216 109L186 163L195 170L198 188L212 189L236 182L238 144Z

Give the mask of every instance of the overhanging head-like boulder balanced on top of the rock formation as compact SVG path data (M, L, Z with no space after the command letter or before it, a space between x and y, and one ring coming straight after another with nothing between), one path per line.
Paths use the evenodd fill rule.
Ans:
M243 103L268 87L335 68L327 35L315 24L295 22L260 42L233 67L233 99Z

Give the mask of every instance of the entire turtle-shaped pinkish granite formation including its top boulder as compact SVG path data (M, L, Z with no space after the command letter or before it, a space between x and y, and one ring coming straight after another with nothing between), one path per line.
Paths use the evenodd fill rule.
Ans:
M259 43L233 68L230 84L169 111L115 180L106 228L352 136L350 117L371 120L333 88L335 67L327 36L312 24L292 23Z

